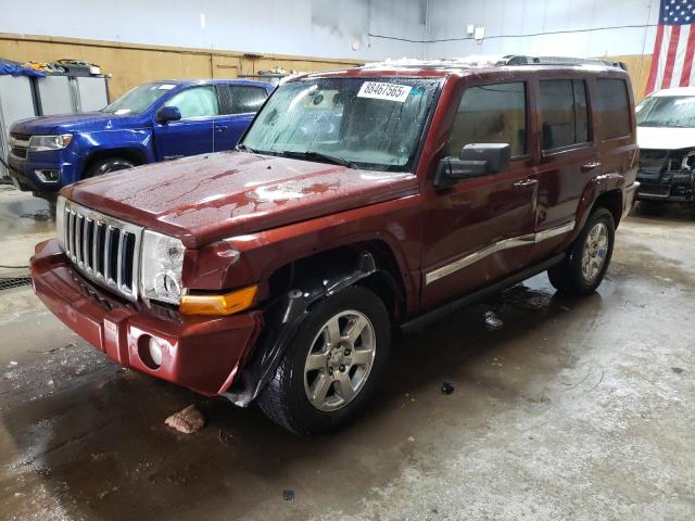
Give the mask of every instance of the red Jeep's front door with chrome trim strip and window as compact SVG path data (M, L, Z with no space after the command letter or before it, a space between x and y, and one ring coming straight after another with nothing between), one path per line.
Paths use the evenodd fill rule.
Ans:
M507 171L424 194L424 310L528 264L538 196L528 106L525 81L465 90L446 154L457 156L468 143L508 143L513 157Z

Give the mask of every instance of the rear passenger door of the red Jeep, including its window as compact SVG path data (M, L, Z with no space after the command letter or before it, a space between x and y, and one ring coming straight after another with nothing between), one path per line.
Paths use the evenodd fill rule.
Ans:
M571 231L587 179L601 174L589 110L587 80L541 79L538 86L540 139L535 257L544 257Z

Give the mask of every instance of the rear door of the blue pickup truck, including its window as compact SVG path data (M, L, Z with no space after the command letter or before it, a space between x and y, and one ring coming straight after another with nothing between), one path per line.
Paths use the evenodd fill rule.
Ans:
M215 120L215 152L232 150L268 97L263 87L218 84L222 115Z

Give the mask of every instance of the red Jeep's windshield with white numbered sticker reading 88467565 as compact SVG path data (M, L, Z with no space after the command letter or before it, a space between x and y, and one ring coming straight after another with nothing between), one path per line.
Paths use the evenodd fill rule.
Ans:
M397 77L289 81L264 105L240 148L407 171L439 84Z

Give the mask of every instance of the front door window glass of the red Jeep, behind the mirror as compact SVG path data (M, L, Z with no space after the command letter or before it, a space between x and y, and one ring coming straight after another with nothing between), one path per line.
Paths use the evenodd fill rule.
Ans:
M526 84L470 87L456 112L448 151L458 156L469 143L509 143L511 156L526 154Z

